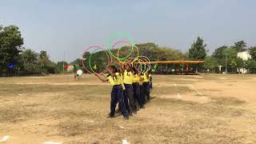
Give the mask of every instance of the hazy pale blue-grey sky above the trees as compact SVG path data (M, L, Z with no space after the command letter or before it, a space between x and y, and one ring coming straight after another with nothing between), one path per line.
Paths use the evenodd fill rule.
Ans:
M244 40L256 46L255 0L1 0L0 25L18 26L24 46L54 62L82 58L125 32L186 52L200 36L211 52Z

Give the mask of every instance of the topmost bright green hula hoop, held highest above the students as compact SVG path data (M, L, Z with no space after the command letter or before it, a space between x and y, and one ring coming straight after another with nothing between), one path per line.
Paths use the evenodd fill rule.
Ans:
M134 50L134 41L132 40L132 38L130 37L130 35L129 34L126 34L126 33L116 33L116 34L114 34L113 36L111 36L110 38L109 38L109 41L108 41L108 43L107 43L107 46L106 46L106 50L110 53L110 56L111 57L113 57L113 58L117 58L118 60L123 60L123 59L126 59L126 58L128 58L129 56L130 56L130 54L128 54L126 57L124 57L124 58L118 58L118 57L116 57L112 52L111 52L111 50L110 50L110 43L111 43L111 41L114 39L114 38L117 38L118 36L126 36L129 40L130 40L130 44L131 44L131 51L130 51L130 54L133 52L133 50Z

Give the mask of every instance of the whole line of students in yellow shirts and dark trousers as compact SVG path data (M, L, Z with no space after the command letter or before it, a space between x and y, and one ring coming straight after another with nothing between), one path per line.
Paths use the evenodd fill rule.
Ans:
M102 82L110 82L113 86L109 118L114 118L117 103L126 120L129 119L129 116L137 114L138 108L135 101L138 102L141 109L145 109L146 102L150 102L150 87L152 86L152 84L150 85L152 83L150 70L146 74L142 74L128 62L123 67L120 66L120 70L115 66L109 66L108 71L110 74L107 77L103 74L103 78L98 74L95 75Z

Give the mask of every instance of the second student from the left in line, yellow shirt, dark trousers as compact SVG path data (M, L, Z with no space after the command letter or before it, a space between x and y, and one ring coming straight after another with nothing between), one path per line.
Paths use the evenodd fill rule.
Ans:
M123 75L123 83L126 88L126 90L124 90L126 110L128 110L130 115L132 115L132 113L137 114L135 105L134 105L134 89L132 86L134 74L133 74L132 67L130 65L130 62L125 63L123 67L122 66L120 67Z

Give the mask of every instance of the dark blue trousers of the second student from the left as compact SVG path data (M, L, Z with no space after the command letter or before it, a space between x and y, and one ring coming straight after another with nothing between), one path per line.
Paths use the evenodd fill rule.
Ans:
M126 105L126 110L128 110L128 112L130 113L132 111L135 111L134 88L130 84L125 84L125 87L126 87L126 90L124 90L125 105Z

